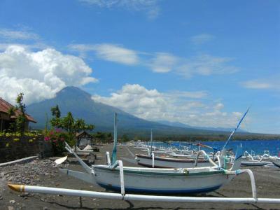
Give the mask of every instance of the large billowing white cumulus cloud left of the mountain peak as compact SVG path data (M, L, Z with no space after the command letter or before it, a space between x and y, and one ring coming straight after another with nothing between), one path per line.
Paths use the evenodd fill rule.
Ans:
M19 92L25 103L39 102L55 96L68 85L97 82L83 59L63 55L52 48L32 52L20 45L10 45L0 53L0 96L14 102Z

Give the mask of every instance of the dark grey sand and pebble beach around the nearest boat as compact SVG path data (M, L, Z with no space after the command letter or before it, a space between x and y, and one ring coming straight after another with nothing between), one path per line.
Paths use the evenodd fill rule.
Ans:
M96 164L104 164L104 152L111 151L111 147L111 145L99 146ZM135 149L133 151L137 152ZM118 157L131 158L123 146L118 147ZM127 166L133 165L131 162L123 162ZM82 171L79 165L66 164L62 167ZM251 169L255 174L258 197L280 198L280 169L276 167L251 167ZM83 207L80 207L79 197L15 193L7 188L8 182L105 192L101 187L90 186L88 183L59 173L57 166L50 160L34 160L25 165L0 168L0 209L280 209L279 204L125 202L87 197L82 198ZM228 185L208 193L207 196L251 197L250 179L247 174L241 174Z

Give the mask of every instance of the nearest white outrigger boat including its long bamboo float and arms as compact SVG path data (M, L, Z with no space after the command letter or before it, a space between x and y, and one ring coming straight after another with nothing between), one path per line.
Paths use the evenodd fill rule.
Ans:
M246 111L247 113L248 111ZM246 115L244 114L244 116ZM244 118L243 116L243 118ZM243 120L243 118L241 120ZM237 127L239 127L241 120ZM235 130L237 130L237 127ZM234 131L235 132L235 131ZM232 132L232 134L234 133ZM230 135L230 137L232 136ZM225 161L225 147L221 153L221 159L218 165L209 158L213 167L197 167L191 169L155 169L139 167L123 167L121 160L116 160L116 116L114 130L114 147L111 159L109 153L106 153L108 165L92 165L88 167L78 155L74 153L66 144L66 149L76 156L85 172L75 172L68 169L60 169L65 174L73 176L83 181L97 184L104 188L119 190L120 193L100 193L85 190L72 190L64 188L46 188L41 186L8 186L18 192L43 193L71 195L80 197L95 197L115 200L141 200L141 201L160 201L160 202L238 202L238 203L279 203L280 199L258 198L255 188L255 179L250 169L239 169L241 164L241 155L235 158L235 162L227 169L228 164ZM230 138L228 139L228 141ZM228 144L228 141L226 144ZM225 145L226 145L225 144ZM204 151L206 157L208 155ZM197 154L197 157L200 155ZM223 158L223 159L222 159ZM197 164L197 161L196 161ZM156 195L134 195L126 192L141 193L205 193L216 190L228 183L235 176L241 173L248 173L251 179L253 197L247 198L229 198L229 197L174 197L174 196L156 196Z

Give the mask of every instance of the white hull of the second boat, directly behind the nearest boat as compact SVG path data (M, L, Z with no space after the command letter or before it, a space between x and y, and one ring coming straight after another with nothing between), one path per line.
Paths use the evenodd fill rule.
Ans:
M153 158L149 155L136 155L137 164L144 167L153 167ZM212 166L208 160L198 160L197 167L210 167ZM176 158L154 158L155 168L193 168L195 167L195 160L183 160Z

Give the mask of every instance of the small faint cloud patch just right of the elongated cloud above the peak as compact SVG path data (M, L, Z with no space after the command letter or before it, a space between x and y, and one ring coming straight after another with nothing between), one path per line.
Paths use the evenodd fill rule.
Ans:
M166 52L155 53L155 57L151 60L152 71L157 73L167 73L172 71L172 68L178 62L178 58Z

